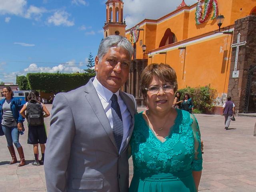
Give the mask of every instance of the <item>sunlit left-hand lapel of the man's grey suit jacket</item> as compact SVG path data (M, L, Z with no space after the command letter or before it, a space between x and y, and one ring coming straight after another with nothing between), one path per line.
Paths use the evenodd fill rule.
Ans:
M85 98L94 110L95 115L97 116L98 120L100 121L100 124L106 131L106 134L109 136L110 140L116 147L116 142L113 135L113 130L110 126L108 117L106 116L106 113L104 111L104 108L100 102L100 98L98 97L98 94L92 84L94 78L91 78L89 82L85 86ZM117 147L116 147L117 148Z

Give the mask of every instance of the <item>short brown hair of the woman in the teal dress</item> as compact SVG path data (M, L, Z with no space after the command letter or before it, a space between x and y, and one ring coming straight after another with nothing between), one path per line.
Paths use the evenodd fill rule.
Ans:
M147 90L149 84L151 83L153 76L157 76L159 79L164 80L165 82L170 82L174 85L174 92L178 89L177 76L175 70L168 64L157 64L152 63L142 71L140 78L140 90L144 99L147 97Z

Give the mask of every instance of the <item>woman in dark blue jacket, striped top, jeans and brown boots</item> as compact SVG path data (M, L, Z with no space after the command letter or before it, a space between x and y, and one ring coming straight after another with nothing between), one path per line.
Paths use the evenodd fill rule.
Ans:
M13 144L18 150L20 155L19 167L26 164L23 148L20 145L19 137L20 133L23 133L23 122L24 118L20 115L23 104L17 98L12 97L12 88L10 86L4 86L4 99L0 101L0 120L2 130L7 140L7 147L12 156L10 164L17 163L17 158Z

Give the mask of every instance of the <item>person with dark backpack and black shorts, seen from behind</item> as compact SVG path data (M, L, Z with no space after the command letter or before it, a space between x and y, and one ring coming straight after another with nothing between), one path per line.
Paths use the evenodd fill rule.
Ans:
M26 115L25 115L26 111ZM45 113L45 114L44 114ZM50 116L46 106L39 100L39 92L32 90L28 95L28 102L20 110L20 114L28 121L28 144L33 144L35 161L32 165L44 164L44 151L47 140L44 118ZM38 143L40 144L42 158L38 159Z

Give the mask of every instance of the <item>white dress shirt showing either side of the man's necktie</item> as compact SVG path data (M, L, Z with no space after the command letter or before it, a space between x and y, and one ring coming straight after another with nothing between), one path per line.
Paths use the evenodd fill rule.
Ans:
M122 114L122 120L123 120L123 126L124 126L124 134L123 134L123 140L122 140L122 145L120 147L119 153L121 152L124 142L126 141L129 130L130 130L130 125L131 125L131 120L132 116L130 115L130 112L127 109L126 104L122 100L121 96L119 95L119 90L116 93L112 93L112 91L108 90L106 87L104 87L95 77L93 82L93 86L96 89L96 92L100 98L100 102L105 110L106 116L108 117L109 123L111 128L113 129L113 120L112 120L112 113L111 113L111 97L113 94L116 94L118 98L118 104L120 106L121 114Z

